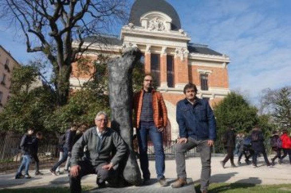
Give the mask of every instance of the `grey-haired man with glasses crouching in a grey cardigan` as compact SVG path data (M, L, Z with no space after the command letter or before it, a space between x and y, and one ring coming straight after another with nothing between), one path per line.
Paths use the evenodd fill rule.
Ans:
M97 174L98 186L105 187L105 181L110 181L110 176L115 174L113 167L125 156L127 148L123 139L108 128L107 123L107 114L98 112L95 118L96 127L88 129L74 144L71 158L71 193L81 193L81 178L88 174ZM84 155L85 146L87 150ZM112 150L116 151L113 157Z

